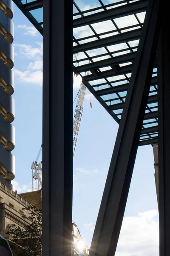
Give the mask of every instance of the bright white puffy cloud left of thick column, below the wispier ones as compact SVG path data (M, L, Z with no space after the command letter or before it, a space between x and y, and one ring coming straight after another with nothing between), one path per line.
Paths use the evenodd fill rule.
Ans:
M17 69L13 69L17 79L29 84L39 84L42 86L42 71L34 71L31 72L30 70L27 71L20 71Z

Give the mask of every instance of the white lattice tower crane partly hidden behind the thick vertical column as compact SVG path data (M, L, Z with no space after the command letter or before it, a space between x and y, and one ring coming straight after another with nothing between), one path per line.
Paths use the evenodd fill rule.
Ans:
M78 53L74 54L73 59L77 61L77 57L78 57ZM73 83L74 83L74 81L73 81ZM77 104L76 104L76 108L74 111L74 119L73 119L73 157L74 157L74 151L76 148L77 137L79 134L79 127L80 127L80 122L81 122L81 118L82 118L82 111L83 111L84 103L85 103L85 93L86 93L86 87L83 83L81 83L79 92L77 93L77 96L76 96ZM41 154L41 151L42 151L42 145L40 147L40 150L38 152L35 162L33 162L31 164L32 191L39 190L42 187L42 161L40 163L37 163L37 160Z

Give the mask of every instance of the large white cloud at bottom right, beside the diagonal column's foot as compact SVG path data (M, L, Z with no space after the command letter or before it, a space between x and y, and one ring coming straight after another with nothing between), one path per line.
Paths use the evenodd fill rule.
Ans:
M94 227L89 231L94 231ZM123 218L115 256L159 256L157 210Z

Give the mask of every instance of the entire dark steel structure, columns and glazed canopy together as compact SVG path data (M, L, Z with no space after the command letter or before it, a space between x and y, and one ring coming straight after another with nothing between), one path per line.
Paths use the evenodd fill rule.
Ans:
M170 232L170 186L165 182L170 153L169 118L165 119L169 116L170 98L169 29L162 29L168 24L166 1L117 0L108 4L106 0L96 0L94 7L89 2L80 7L77 0L73 6L66 0L13 1L43 34L42 160L46 177L42 189L42 228L47 230L42 237L43 255L71 255L68 238L72 209L71 74L74 71L120 124L90 255L114 255L137 147L158 143L159 129L160 256L169 256L170 244L166 242L165 246ZM72 61L75 53L79 53L79 58ZM51 204L54 198L55 206ZM51 242L54 233L55 246Z

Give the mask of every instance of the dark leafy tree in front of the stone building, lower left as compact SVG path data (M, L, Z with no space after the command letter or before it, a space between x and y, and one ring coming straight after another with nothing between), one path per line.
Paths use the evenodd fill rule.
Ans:
M26 214L22 220L26 223L25 228L15 224L9 225L7 234L18 247L18 256L42 256L42 210L34 206L23 208Z

